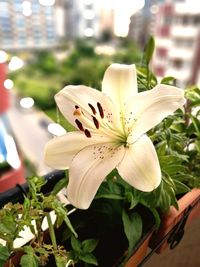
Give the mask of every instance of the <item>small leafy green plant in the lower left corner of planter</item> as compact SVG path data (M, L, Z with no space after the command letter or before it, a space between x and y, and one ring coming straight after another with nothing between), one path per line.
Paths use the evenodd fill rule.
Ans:
M57 244L55 229L63 222L74 236L72 244L79 242L77 234L68 218L67 208L58 200L55 192L44 195L41 192L42 186L46 183L42 177L28 178L29 192L24 196L22 204L8 203L0 210L0 238L4 240L5 245L0 244L0 266L4 266L6 261L9 266L12 263L12 255L21 253L20 266L46 266L52 256L55 266L63 267L74 264L77 259L83 261L95 261L91 252L95 248L92 240L83 242L84 252L88 252L87 258L81 258L76 253L77 246L73 246L74 251L66 251L62 245ZM56 220L53 222L52 212ZM43 229L43 222L46 218L48 232ZM25 229L30 229L33 239L23 247L15 247L15 240L23 238ZM50 239L50 240L49 240ZM92 244L91 244L92 243ZM76 257L72 257L76 255ZM78 256L77 256L78 255Z

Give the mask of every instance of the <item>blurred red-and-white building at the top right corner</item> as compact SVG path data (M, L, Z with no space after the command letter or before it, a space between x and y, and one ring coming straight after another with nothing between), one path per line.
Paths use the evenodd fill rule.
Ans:
M152 68L156 75L173 76L181 86L200 84L200 5L166 1L152 6L151 11L156 41Z

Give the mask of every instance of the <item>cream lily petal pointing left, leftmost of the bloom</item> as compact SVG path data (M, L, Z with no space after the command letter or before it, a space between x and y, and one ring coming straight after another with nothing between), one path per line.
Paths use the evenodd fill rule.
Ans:
M68 169L78 151L97 142L105 143L108 141L109 139L105 136L93 135L92 138L87 138L81 132L70 132L55 137L46 144L44 161L55 169Z

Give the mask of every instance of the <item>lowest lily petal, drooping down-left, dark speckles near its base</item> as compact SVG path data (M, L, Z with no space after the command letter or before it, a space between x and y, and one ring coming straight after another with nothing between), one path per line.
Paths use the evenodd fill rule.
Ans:
M100 184L122 160L124 147L114 144L92 145L73 159L69 169L67 198L77 208L87 209Z

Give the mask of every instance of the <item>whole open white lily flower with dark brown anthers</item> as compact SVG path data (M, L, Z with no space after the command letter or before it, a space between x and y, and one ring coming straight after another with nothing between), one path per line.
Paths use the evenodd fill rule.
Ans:
M138 93L135 65L112 64L102 92L66 86L55 100L78 131L52 139L45 162L69 168L67 197L87 209L105 177L117 168L131 186L145 192L158 187L161 170L155 148L145 133L184 103L184 92L159 84Z

